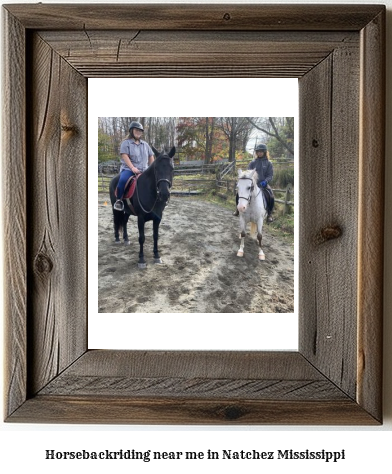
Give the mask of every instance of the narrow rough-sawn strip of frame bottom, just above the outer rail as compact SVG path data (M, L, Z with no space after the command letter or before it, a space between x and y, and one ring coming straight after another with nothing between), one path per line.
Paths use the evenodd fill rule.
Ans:
M208 379L206 377L102 377L61 375L40 395L132 397L133 399L226 398L230 400L346 400L329 380Z

